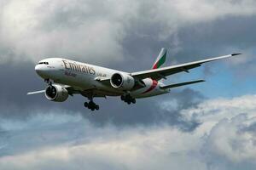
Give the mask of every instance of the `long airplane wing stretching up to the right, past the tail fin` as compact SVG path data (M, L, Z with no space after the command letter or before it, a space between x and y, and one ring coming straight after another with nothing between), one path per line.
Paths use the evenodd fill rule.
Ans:
M224 56L215 57L211 59L203 59L199 61L189 62L182 65L172 65L172 66L167 66L167 67L154 69L154 70L133 72L131 73L131 77L134 77L137 79L144 79L144 78L151 77L154 80L160 80L161 78L166 78L167 76L176 74L178 72L183 72L183 71L189 72L190 69L199 67L203 63L207 63L217 59L226 59L235 55L239 55L239 54L229 54L229 55L224 55Z

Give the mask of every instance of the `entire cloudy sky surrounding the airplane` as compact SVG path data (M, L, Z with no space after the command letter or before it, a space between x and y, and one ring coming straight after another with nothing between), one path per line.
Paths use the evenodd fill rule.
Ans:
M256 168L254 0L0 0L0 169ZM242 53L166 83L206 79L125 105L57 104L34 65L77 59L123 71Z

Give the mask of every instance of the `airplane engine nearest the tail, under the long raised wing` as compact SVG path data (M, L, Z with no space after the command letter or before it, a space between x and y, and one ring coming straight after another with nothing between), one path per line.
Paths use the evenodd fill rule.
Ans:
M125 73L114 73L110 79L111 86L113 88L119 88L120 90L131 90L135 85L135 80Z

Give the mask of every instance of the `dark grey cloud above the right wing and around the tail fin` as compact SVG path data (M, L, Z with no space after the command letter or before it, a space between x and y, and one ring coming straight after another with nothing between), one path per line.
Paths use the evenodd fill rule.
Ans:
M254 15L251 17L227 17L224 20L183 26L177 31L177 34L166 38L166 40L159 40L153 36L139 37L134 34L134 32L143 34L143 31L146 31L148 35L156 35L160 31L154 31L155 27L158 27L157 25L145 26L145 30L138 28L141 25L135 25L132 27L132 31L128 31L130 34L128 33L123 46L127 58L137 68L141 66L143 69L151 66L162 47L168 48L168 65L173 65L172 61L184 63L224 54L243 53L248 55L247 53L250 53L256 45L255 23ZM253 55L250 55L250 58L253 59L253 63L256 62ZM137 62L137 59L143 62ZM246 65L250 65L250 63L246 62Z

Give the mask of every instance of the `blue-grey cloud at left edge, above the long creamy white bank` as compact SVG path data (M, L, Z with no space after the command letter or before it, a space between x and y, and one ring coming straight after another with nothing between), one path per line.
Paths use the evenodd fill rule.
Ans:
M80 137L86 134L86 138L96 135L92 130L79 131L82 127L90 129L90 122L79 119L78 115L71 115L57 110L42 114L34 111L32 116L21 119L2 117L1 127L4 128L3 134L0 133L0 157L10 156L35 148L63 144L75 139L79 142ZM92 126L93 127L93 126ZM65 133L63 133L65 132ZM87 141L83 138L84 142Z

